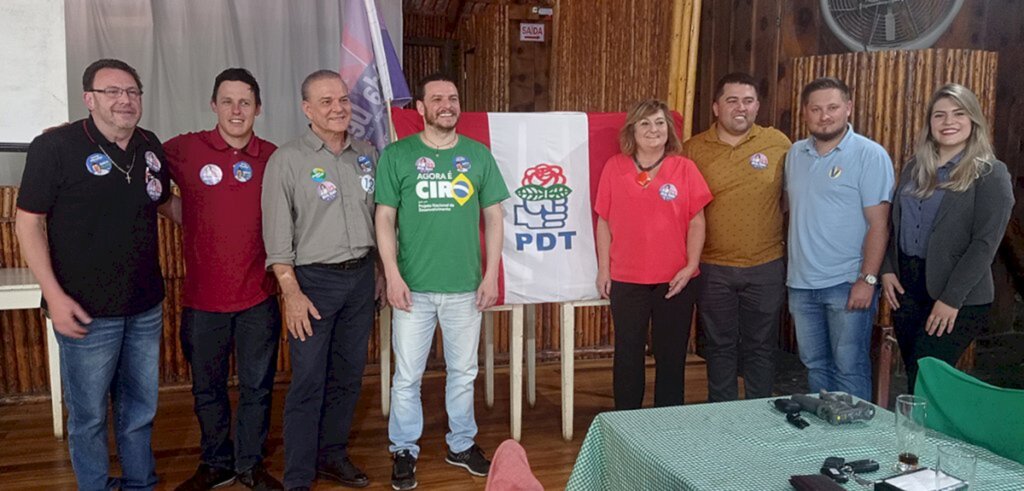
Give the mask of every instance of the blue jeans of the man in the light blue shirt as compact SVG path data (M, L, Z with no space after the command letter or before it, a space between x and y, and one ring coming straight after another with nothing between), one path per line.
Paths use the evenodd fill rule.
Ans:
M790 288L790 314L811 392L842 391L870 401L871 329L879 295L869 309L847 310L852 286Z

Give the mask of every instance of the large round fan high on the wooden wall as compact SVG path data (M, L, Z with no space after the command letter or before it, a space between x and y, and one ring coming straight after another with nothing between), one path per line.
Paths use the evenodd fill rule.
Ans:
M925 49L949 28L964 0L821 0L828 29L854 51Z

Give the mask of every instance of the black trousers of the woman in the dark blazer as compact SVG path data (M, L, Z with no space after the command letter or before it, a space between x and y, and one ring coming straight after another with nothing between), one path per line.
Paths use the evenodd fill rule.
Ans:
M918 360L934 357L956 365L971 341L988 326L988 311L992 304L962 306L953 322L952 332L941 337L930 336L925 331L925 326L935 300L928 294L925 259L900 252L899 281L906 293L899 299L899 310L893 312L893 328L900 355L906 365L907 390L913 394L918 379Z

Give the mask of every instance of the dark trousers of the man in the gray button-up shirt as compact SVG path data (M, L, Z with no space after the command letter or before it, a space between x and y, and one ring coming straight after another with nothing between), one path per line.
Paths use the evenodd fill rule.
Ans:
M374 261L348 271L295 269L302 292L319 312L313 335L289 338L292 383L285 399L286 488L309 486L319 462L348 456L348 434L362 388L374 324Z

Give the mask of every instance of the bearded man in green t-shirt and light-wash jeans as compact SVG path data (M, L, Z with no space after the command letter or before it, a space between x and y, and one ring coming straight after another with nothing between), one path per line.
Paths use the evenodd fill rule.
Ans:
M416 487L416 442L423 433L420 383L440 321L447 382L445 461L486 476L490 461L473 439L473 382L480 311L498 298L501 202L508 189L490 151L456 133L459 90L442 76L420 82L416 109L424 130L386 149L377 169L377 245L394 306L389 451L391 486ZM482 211L486 264L480 271Z

